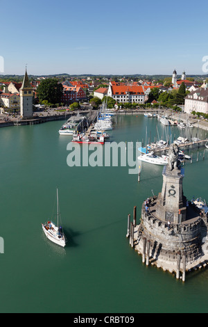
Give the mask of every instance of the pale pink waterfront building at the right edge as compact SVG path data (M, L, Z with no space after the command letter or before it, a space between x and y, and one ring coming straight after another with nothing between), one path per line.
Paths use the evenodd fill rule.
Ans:
M191 113L192 111L200 113L208 113L208 87L197 88L191 91L184 102L184 112Z

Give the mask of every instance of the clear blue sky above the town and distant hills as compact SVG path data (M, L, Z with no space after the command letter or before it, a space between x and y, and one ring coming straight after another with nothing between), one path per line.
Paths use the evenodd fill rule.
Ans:
M205 74L207 1L0 4L4 74Z

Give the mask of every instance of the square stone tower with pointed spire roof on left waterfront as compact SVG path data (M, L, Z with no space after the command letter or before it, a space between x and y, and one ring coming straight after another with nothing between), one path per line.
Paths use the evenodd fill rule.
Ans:
M20 96L20 115L22 118L33 117L33 86L28 79L27 70L24 75L21 88L19 88Z

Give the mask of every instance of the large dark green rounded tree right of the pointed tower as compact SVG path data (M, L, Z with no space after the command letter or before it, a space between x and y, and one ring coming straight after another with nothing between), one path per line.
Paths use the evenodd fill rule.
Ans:
M37 97L40 102L47 100L52 104L60 103L63 93L62 83L58 79L43 79L37 86Z

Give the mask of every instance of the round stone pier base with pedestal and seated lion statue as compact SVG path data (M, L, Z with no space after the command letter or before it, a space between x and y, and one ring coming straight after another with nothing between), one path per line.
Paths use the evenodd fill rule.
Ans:
M162 191L141 206L140 223L130 223L130 244L142 255L142 262L176 273L184 280L185 272L208 262L208 217L205 209L187 200L183 193L184 169L178 160L179 148L169 147L164 166Z

